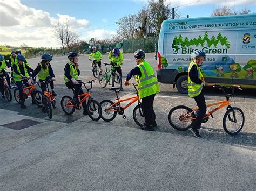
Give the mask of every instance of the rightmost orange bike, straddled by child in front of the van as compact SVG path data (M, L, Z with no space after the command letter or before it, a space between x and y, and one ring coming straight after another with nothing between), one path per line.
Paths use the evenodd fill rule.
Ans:
M212 87L216 87L223 91L223 93L226 96L226 100L214 102L210 104L206 104L206 107L211 107L214 105L218 105L217 108L212 109L211 111L208 111L204 118L203 123L206 123L209 119L209 116L213 118L213 113L215 111L218 111L219 109L227 106L227 111L224 114L223 117L223 128L224 130L230 134L230 135L236 135L242 130L242 127L245 123L245 115L244 112L240 108L232 107L230 100L232 96L234 95L234 88L241 89L240 86L231 86L229 89L231 89L231 94L228 94L224 88L224 86L219 85L213 85ZM174 108L172 108L168 114L168 121L171 124L171 126L177 130L185 131L191 128L196 121L197 117L197 111L198 107L196 108L189 108L185 105L178 105Z

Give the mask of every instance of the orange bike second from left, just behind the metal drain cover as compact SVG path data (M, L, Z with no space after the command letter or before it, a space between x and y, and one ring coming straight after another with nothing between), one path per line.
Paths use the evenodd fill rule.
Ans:
M27 77L21 78L23 79L27 79ZM42 97L43 97L43 93L42 91L39 91L36 89L36 84L38 84L38 82L33 81L32 85L29 87L24 87L23 88L23 94L24 94L24 98L27 99L29 97L29 95L31 96L33 102L39 107L42 108ZM23 84L24 86L24 84ZM19 100L19 89L16 88L14 90L14 98L16 100L17 103L21 104L20 100Z

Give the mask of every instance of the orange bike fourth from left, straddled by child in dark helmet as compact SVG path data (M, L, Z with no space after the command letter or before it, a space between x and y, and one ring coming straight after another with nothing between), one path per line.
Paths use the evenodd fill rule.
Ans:
M102 107L100 107L99 102L96 100L93 100L91 97L92 93L92 82L95 82L95 80L91 80L87 83L84 82L78 82L84 84L85 89L87 90L87 93L80 94L78 95L78 98L82 98L82 100L79 101L78 104L73 104L72 103L72 98L68 95L65 95L62 97L62 100L60 101L60 104L62 106L62 110L65 112L66 115L72 115L73 112L75 112L76 109L80 110L82 109L81 104L86 101L88 98L87 104L86 104L86 109L88 112L88 116L93 120L93 121L98 121L100 117L102 117ZM87 88L85 84L90 84L91 87ZM73 91L75 89L72 89Z

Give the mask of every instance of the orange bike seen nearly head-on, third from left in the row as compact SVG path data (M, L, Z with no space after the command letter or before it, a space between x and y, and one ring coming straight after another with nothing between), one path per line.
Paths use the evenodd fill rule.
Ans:
M48 117L51 119L52 118L52 108L56 108L56 99L55 96L53 96L51 94L51 92L49 91L49 82L52 81L52 79L46 80L46 81L42 81L42 82L38 82L38 83L45 83L46 86L46 91L44 91L43 97L42 97L42 104L43 107L45 108Z

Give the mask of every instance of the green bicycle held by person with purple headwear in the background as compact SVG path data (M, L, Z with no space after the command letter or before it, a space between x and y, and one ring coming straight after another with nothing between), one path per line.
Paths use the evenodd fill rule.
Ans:
M99 84L101 87L105 88L107 83L110 84L112 77L112 87L118 87L117 92L122 89L122 77L118 72L114 72L114 66L110 63L104 63L105 70L99 72ZM111 69L107 70L107 65L111 66Z

